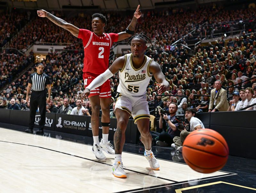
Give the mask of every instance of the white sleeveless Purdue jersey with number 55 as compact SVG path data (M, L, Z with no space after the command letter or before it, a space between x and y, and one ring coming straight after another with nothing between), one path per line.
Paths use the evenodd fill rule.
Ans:
M142 96L146 94L148 83L153 74L148 71L153 59L145 56L143 65L136 69L132 65L132 54L125 55L124 66L119 70L117 92L124 96Z

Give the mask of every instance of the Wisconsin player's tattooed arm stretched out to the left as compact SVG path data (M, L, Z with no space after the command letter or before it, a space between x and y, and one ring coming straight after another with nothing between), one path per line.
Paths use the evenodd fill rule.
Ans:
M64 21L63 19L60 19L54 15L52 15L49 12L46 12L45 10L41 9L37 11L37 15L39 17L46 17L49 20L51 20L53 23L55 23L57 26L62 27L63 29L68 30L71 34L73 34L74 36L78 37L78 33L79 33L79 28L72 25L71 23L68 23L67 21Z

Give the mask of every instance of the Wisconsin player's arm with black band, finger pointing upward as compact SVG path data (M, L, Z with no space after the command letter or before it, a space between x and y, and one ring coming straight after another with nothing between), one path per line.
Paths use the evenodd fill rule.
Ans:
M141 16L141 11L140 11L140 5L138 5L136 11L134 12L133 14L133 18L132 18L132 21L131 23L129 24L129 26L127 27L127 29L125 30L125 32L120 32L118 33L118 40L117 41L122 41L122 40L125 40L127 39L128 37L131 37L132 34L134 33L135 31L135 27L136 27L136 24L137 24L137 20L140 18Z

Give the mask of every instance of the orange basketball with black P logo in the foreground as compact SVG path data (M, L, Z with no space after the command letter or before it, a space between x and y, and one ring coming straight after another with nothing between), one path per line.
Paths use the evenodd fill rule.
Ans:
M228 144L212 129L198 129L190 133L184 143L182 154L193 170L208 174L220 170L228 159Z

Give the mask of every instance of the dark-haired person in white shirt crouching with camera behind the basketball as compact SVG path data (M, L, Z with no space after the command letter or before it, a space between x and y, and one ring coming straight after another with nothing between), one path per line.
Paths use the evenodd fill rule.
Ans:
M185 118L183 125L179 125L180 137L174 137L171 147L176 149L177 152L182 152L182 145L186 137L196 129L204 129L204 124L201 120L194 117L196 115L196 109L194 108L187 108L185 112ZM186 124L188 123L188 124Z

